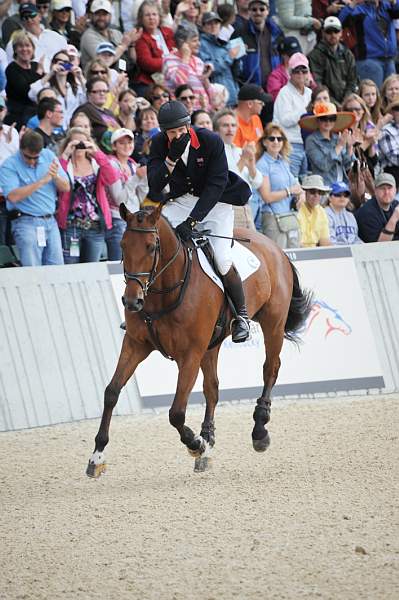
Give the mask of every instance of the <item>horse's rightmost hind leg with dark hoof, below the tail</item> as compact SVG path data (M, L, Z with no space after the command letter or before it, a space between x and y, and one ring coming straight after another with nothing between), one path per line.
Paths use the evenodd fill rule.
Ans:
M263 364L263 390L257 399L253 418L252 444L257 452L264 452L270 444L270 436L265 425L270 421L271 392L280 369L280 352L284 340L285 319L276 319L272 311L262 309L257 315L265 341L266 360Z

